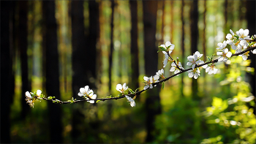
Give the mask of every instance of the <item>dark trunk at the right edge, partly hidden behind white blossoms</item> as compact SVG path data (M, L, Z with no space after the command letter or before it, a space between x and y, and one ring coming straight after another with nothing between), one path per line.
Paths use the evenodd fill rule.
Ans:
M256 1L246 1L246 20L247 20L247 27L249 29L249 35L252 36L253 34L256 34ZM249 67L253 67L256 69L256 55L250 53L249 58L251 60L251 64ZM246 76L249 77L249 84L252 88L252 95L256 96L256 77L255 73L252 75L252 73L246 73ZM255 99L256 103L256 99ZM254 113L256 113L255 107L253 107Z

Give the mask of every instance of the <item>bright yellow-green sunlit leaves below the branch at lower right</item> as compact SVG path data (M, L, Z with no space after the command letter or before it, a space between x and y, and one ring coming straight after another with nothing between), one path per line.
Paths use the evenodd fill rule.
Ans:
M249 66L249 61L241 62L237 58L230 67L236 67L237 64ZM216 127L215 131L221 134L222 129L225 129L225 137L221 140L211 137L202 143L255 143L256 120L252 109L255 107L255 98L250 94L249 84L241 80L240 75L243 73L244 67L230 69L223 81L233 90L234 96L225 100L214 96L211 107L206 107L203 112L206 122Z

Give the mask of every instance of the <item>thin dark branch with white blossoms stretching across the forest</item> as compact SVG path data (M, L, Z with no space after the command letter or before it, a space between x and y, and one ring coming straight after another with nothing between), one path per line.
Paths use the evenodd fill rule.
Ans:
M169 61L172 61L170 72L174 72L174 75L171 75L170 77L164 76L164 69L160 69L158 72L156 72L156 75L152 75L150 77L144 76L144 88L141 91L138 91L138 88L133 91L132 89L128 88L127 84L124 83L123 85L117 84L116 90L120 92L118 96L112 97L107 96L106 98L97 99L97 94L94 94L94 91L89 88L89 86L85 86L84 88L80 88L80 92L78 93L78 96L83 97L81 100L72 99L68 100L67 102L62 102L59 99L56 99L54 96L48 96L47 98L42 94L42 91L37 90L37 93L26 91L26 102L31 106L34 107L34 102L36 100L41 101L43 100L49 100L54 103L59 104L72 104L77 102L103 102L105 100L110 99L122 99L127 98L127 101L132 107L135 107L135 98L136 96L139 96L143 91L147 91L150 88L154 88L154 86L157 86L157 84L162 83L162 87L164 87L165 81L169 80L172 77L175 77L177 75L180 75L181 73L188 72L188 77L194 77L197 79L197 77L200 76L200 72L202 69L206 69L206 73L208 75L216 74L218 69L215 67L214 63L217 62L226 62L229 58L233 56L241 56L243 60L245 61L248 56L249 52L251 51L253 54L256 54L256 35L249 37L249 30L248 29L239 29L239 31L236 31L236 34L230 29L230 34L227 34L226 40L223 42L219 42L217 44L217 55L213 54L211 57L207 57L208 61L202 61L200 58L203 56L203 54L200 54L198 51L196 51L192 56L187 57L187 66L191 67L188 69L184 69L181 65L181 62L178 60L174 60L170 54L173 52L175 45L173 45L170 42L165 42L165 45L160 45L159 51L162 51L164 54L164 60L163 60L163 67L165 68L167 63ZM235 53L232 53L228 48L227 45L230 45L230 48L232 50L235 50ZM158 51L158 52L159 52ZM219 56L217 59L214 59L214 56ZM159 79L162 80L159 80ZM127 91L128 90L128 91Z

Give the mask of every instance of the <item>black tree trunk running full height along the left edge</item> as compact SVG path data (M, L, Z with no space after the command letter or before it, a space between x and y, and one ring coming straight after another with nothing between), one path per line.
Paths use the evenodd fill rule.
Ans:
M14 1L0 1L1 5L1 140L10 143L10 104L14 91L12 72L13 5Z

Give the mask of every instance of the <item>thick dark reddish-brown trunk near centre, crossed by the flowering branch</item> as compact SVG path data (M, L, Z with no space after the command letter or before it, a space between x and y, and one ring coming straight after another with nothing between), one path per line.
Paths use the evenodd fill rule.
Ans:
M157 2L143 1L144 59L145 72L149 77L156 75L158 54L156 46ZM154 140L154 120L161 113L159 87L146 92L146 142Z

